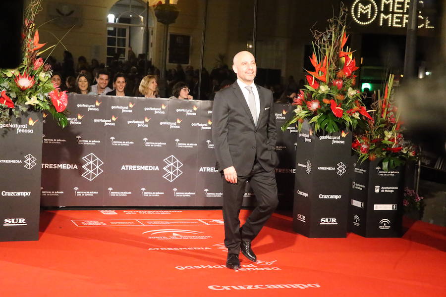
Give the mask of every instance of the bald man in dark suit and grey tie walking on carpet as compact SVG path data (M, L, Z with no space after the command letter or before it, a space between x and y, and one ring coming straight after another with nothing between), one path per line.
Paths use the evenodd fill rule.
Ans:
M279 160L275 151L273 94L254 84L257 72L254 56L249 51L237 53L232 69L237 81L217 92L214 99L212 138L217 168L224 176L226 267L239 269L240 250L250 261L257 261L251 241L277 207L275 167ZM254 191L257 206L240 227L238 215L246 182Z

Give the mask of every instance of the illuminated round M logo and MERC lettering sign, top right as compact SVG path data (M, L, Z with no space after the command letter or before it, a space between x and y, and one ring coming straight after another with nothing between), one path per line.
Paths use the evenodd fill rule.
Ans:
M355 0L350 8L350 16L359 25L378 22L380 27L403 28L409 19L410 0ZM419 6L423 1L419 1ZM418 8L420 8L418 6ZM428 16L418 11L418 28L434 29Z

